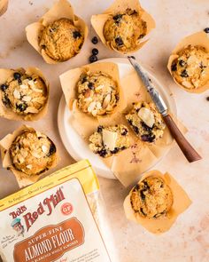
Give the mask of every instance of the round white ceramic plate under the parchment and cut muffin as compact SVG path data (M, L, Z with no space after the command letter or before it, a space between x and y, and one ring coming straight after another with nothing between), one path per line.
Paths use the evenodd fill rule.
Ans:
M129 64L127 59L99 60L99 62L103 62L103 61L116 63L119 66L120 77L128 75L130 71L134 70L133 67ZM153 73L151 73L150 70L147 70L145 68L144 70L147 71L147 74L150 76L152 82L155 84L159 93L166 101L166 105L169 108L170 112L176 115L176 107L175 107L174 99L170 96L170 91L167 88L163 89L163 85L159 82L159 79L156 79L156 77L153 75ZM67 152L76 161L80 161L81 159L89 159L89 162L93 165L98 176L107 179L115 179L115 176L113 175L112 171L110 171L104 165L104 163L99 159L99 157L97 157L97 155L95 155L90 151L88 144L85 143L83 139L81 139L81 137L77 134L76 131L74 131L74 128L70 125L70 121L69 121L69 118L71 116L72 113L69 111L68 107L66 106L66 100L63 95L58 107L58 130L59 130L60 137L63 141L63 144L66 147ZM167 154L167 152L165 152L165 154L159 159L159 161ZM152 167L153 166L151 166L150 169Z

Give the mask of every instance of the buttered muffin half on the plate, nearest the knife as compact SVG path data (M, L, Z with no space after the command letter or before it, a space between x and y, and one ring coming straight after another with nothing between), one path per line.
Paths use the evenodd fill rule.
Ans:
M153 103L138 102L126 115L126 119L138 138L152 143L162 138L165 123Z

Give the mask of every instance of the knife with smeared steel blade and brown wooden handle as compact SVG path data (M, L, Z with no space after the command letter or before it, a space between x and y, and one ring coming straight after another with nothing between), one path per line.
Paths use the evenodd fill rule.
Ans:
M202 159L202 157L198 155L197 151L190 145L188 140L185 139L185 137L182 135L182 132L174 123L174 120L171 117L171 115L168 114L166 103L160 96L159 92L156 90L154 85L151 83L150 77L143 71L143 68L139 65L139 63L136 62L135 57L128 56L128 60L131 63L131 65L135 68L137 75L142 79L143 84L145 85L147 91L151 95L151 99L155 103L159 113L162 115L167 128L169 129L175 141L181 148L183 155L185 155L185 157L190 163Z

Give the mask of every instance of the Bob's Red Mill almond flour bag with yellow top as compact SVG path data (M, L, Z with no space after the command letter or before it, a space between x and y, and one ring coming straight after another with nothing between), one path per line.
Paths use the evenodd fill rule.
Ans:
M0 221L4 262L119 261L88 161L0 200Z

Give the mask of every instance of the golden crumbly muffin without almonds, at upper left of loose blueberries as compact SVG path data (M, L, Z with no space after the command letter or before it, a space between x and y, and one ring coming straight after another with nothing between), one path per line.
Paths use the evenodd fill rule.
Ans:
M39 46L52 59L66 61L80 52L84 36L69 19L55 20L43 29Z

